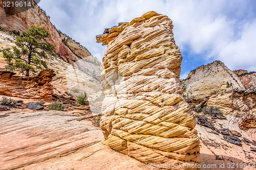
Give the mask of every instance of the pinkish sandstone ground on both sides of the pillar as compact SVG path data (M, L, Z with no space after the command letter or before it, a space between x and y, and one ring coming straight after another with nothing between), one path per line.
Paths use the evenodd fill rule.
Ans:
M17 108L1 111L0 169L152 169L103 145L100 116L81 113ZM256 153L250 151L256 146L243 140L246 137L253 142L252 136L230 124L230 119L215 119L212 125L239 132L242 146L224 140L222 134L211 133L212 129L196 126L202 165L256 162Z

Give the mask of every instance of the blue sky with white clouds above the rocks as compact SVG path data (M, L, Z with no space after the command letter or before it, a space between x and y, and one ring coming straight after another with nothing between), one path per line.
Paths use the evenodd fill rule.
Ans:
M231 70L256 70L256 1L66 1L38 4L57 29L103 57L106 45L95 36L104 28L131 21L147 11L173 20L174 37L183 56L181 78L190 70L215 60Z

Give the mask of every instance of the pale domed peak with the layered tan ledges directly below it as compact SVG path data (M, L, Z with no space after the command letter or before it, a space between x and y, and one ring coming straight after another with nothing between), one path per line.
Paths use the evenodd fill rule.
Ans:
M247 71L237 70L236 74L245 74ZM197 67L190 71L184 81L190 102L203 106L219 107L225 115L243 118L256 116L256 95L245 91L240 77L229 70L221 61Z

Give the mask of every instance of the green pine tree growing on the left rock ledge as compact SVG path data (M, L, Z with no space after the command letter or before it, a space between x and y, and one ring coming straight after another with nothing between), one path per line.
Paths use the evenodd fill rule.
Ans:
M10 48L3 50L7 70L17 70L29 77L30 71L37 72L47 68L45 60L54 55L54 46L47 42L50 33L45 27L32 26L21 36L16 36L13 52Z

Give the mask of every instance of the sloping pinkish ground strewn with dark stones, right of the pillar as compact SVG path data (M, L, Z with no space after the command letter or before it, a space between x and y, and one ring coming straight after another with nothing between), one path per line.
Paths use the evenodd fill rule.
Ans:
M234 119L236 119L234 116L227 116L226 119L208 118L212 122L212 127L217 130L208 128L210 126L206 127L205 124L196 126L195 129L198 130L200 137L202 162L207 164L256 162L255 133L251 133L252 130L241 130Z

